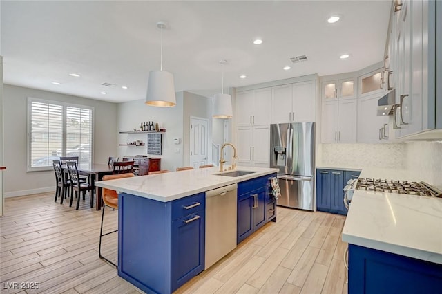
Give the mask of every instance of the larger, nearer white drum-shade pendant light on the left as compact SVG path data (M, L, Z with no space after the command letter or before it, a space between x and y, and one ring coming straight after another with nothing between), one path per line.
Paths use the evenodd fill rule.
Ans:
M160 28L161 31L160 71L149 73L146 102L144 103L155 107L173 107L177 104L173 75L169 71L163 71L163 30L166 28L166 24L160 21L157 23L157 28Z

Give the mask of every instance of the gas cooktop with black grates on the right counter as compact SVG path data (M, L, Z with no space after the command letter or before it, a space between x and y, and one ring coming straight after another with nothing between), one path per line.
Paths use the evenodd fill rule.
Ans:
M356 189L386 193L442 197L441 190L438 190L423 181L417 183L409 181L383 180L380 178L358 178Z

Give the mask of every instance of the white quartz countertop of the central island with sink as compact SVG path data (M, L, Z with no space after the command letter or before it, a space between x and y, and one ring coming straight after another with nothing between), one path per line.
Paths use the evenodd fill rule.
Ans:
M278 169L261 167L236 167L235 171L253 172L244 176L218 176L219 167L191 169L180 172L166 172L149 176L135 176L117 180L97 181L97 187L104 187L117 192L125 192L162 202L173 201L185 196L213 190L251 178L258 178L278 172Z

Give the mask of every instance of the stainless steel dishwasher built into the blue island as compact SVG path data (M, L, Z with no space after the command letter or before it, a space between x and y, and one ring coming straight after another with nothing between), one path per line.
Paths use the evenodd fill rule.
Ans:
M206 258L204 269L236 248L238 185L206 192Z

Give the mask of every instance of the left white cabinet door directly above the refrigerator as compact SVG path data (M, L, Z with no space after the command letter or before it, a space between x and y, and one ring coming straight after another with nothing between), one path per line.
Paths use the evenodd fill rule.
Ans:
M292 93L291 84L271 88L271 123L291 122Z

